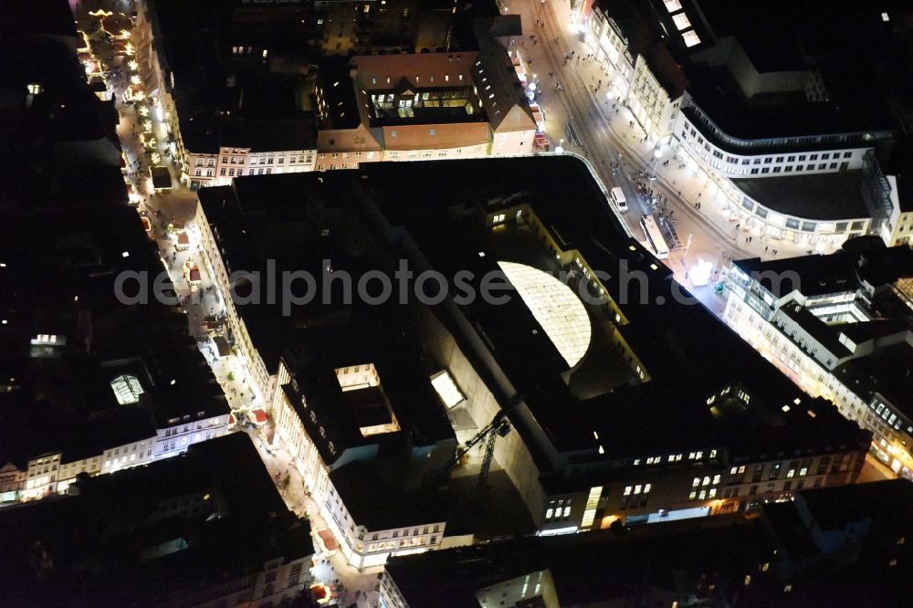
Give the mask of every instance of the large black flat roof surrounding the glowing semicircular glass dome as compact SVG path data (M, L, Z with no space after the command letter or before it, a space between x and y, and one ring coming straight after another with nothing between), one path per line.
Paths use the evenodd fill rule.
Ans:
M612 277L606 287L629 321L618 330L650 378L636 386L630 377L589 391L575 386L576 374L591 357L614 350L612 341L591 341L582 364L569 370L516 291L505 292L512 296L505 304L477 298L460 306L497 362L491 372L506 374L559 452L599 458L599 446L610 457L648 455L657 446L673 451L674 446L726 445L731 454L763 454L808 447L810 437L824 446L865 441L865 434L833 407L809 405L821 409L814 418L802 408L783 413L782 404L804 394L706 309L677 303L672 290L681 299L680 286L624 234L581 162L553 157L433 162L431 167L390 163L365 166L361 173L385 220L407 233L422 259L447 277L468 270L478 281L497 271L500 260L547 273L558 269L540 236L524 236L530 220L492 227L489 214L516 215L516 205L528 205L561 248L580 252L591 267ZM644 274L645 301L621 296L620 278L633 271ZM604 307L602 317L590 313L593 334L614 324ZM453 322L442 309L436 314L446 324ZM708 341L713 348L706 347ZM625 364L604 359L603 369ZM741 416L718 419L710 413L708 397L733 383L752 395L752 407Z

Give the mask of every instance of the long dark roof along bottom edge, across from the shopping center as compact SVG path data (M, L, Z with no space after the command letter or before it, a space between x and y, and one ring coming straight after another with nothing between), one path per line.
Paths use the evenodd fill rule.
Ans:
M477 593L525 575L530 575L526 596L537 595L532 589L540 582L546 597L549 582L539 571L551 574L561 605L626 605L650 588L680 592L702 574L718 584L730 577L742 580L749 572L762 581L758 565L772 552L757 524L692 531L655 524L628 534L526 537L394 557L386 570L413 606L475 606Z

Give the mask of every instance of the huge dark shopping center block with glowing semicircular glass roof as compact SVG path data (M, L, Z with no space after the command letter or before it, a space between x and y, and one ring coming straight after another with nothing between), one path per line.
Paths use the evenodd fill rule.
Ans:
M569 179L557 183L555 174ZM449 418L447 434L460 444L504 416L513 430L494 439L494 466L544 534L607 528L616 519L758 508L796 488L852 483L862 466L870 435L833 405L805 395L707 310L683 302L685 292L670 272L628 236L601 184L572 157L366 163L357 172L246 177L200 196L215 236L209 255L225 257L229 271L267 271L272 258L280 270L359 278L368 271L393 276L406 263L416 275L433 271L447 286L476 296L442 295L425 280L433 301L408 299L394 307L395 322L363 325L358 319L373 319L378 307L365 313L322 297L296 303L287 314L278 299L237 307L249 338L243 348L268 374L262 392L278 435L298 455L296 466L323 499L352 563L383 561L391 550L433 549L428 543L436 534L425 535L425 526L443 530L447 521L423 511L408 525L410 538L425 544L404 546L407 524L368 523L359 515L360 498L346 495L341 478L337 486L335 477L356 470L348 468L352 459L371 477L383 445L402 436L415 415L410 407ZM575 203L573 214L568 201ZM482 296L495 279L495 295L507 294L508 301ZM345 289L331 283L326 293L335 301ZM447 390L424 407L415 397L388 393L388 383L406 374L385 371L392 362L383 362L383 350L343 348L336 357L321 347L326 361L314 359L321 348L309 347L309 336L318 328L343 336L356 326L374 328L356 332L365 337L362 350L374 331L387 332L388 341L420 343L418 358L409 356L415 346L396 349L400 364L413 361L429 384L449 377ZM291 355L299 346L311 353L310 363ZM364 365L365 390L378 393L371 389L376 382L387 398L357 399L356 406L361 391L342 387L339 370L345 376L346 368ZM332 393L321 398L330 386ZM332 406L309 409L311 399ZM387 414L372 416L370 424L345 414L365 404L383 404L369 410ZM409 434L412 447L397 452L397 470L418 461L424 463L415 469L418 477L440 475L446 445L456 444L428 430L436 426L411 426L425 430ZM366 435L369 427L379 435ZM416 449L432 456L415 458ZM408 495L409 486L400 487L404 495L382 493L390 504ZM377 543L388 534L384 542L400 544L372 543L375 533Z

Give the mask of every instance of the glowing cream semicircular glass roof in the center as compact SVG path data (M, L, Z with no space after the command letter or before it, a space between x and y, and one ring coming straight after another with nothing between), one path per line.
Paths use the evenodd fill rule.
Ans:
M573 289L537 268L498 262L564 361L573 367L590 346L590 317Z

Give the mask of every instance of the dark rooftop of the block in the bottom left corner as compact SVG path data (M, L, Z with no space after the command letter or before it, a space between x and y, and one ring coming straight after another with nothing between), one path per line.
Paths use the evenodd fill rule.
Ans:
M7 603L168 603L173 593L313 553L307 521L289 513L244 433L73 489L77 496L0 511ZM175 500L197 507L163 504ZM178 550L157 554L175 542ZM52 568L31 559L36 547Z

